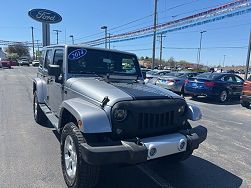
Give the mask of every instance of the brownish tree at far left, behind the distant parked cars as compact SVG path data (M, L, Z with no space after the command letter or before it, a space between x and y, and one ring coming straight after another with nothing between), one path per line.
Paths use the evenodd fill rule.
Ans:
M29 48L27 46L25 46L22 43L18 43L18 44L14 44L14 45L9 45L5 52L7 54L17 54L18 57L22 57L22 56L30 56L29 54Z

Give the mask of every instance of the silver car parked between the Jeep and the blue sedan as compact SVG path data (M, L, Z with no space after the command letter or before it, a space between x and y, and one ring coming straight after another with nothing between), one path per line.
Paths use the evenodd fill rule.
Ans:
M186 80L197 75L196 72L171 72L155 79L155 85L183 94Z

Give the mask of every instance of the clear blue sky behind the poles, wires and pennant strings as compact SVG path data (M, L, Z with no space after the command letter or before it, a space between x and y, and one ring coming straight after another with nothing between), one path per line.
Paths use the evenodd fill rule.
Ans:
M163 23L172 19L182 18L199 12L199 9L214 7L231 0L158 0L158 22ZM186 4L169 9L180 4ZM59 13L61 23L51 25L51 43L56 42L53 29L60 29L61 43L71 43L69 35L74 35L75 42L80 43L103 37L101 26L114 28L130 21L146 17L153 13L154 0L8 0L1 3L0 11L0 40L31 41L31 29L35 28L35 39L41 41L41 23L32 20L28 11L33 8L45 8ZM176 16L177 15L177 16ZM175 18L173 16L176 16ZM203 34L201 63L207 65L243 65L246 62L247 48L228 49L215 47L247 47L251 28L251 14L225 19L200 27L194 27L166 34L163 40L163 58L174 57L176 60L187 60L196 63L200 31ZM110 30L111 34L131 31L149 26L153 18L147 17L118 29ZM90 36L93 35L94 36ZM156 43L157 48L159 42ZM103 46L100 46L103 47ZM132 51L140 56L152 56L152 38L111 44L111 48ZM142 50L144 49L144 50ZM159 57L159 49L156 50Z

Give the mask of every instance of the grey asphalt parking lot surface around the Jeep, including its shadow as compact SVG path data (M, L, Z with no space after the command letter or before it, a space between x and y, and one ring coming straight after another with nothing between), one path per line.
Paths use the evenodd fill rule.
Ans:
M0 187L66 187L59 141L51 127L35 123L32 78L36 68L0 70ZM102 169L97 187L251 187L251 109L238 100L198 105L208 138L193 156L180 163L152 161L137 166Z

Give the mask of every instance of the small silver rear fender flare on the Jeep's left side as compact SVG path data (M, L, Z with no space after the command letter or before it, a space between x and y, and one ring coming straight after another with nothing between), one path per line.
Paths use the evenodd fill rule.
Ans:
M33 93L37 91L37 99L39 103L44 103L47 95L46 82L41 78L33 79Z

